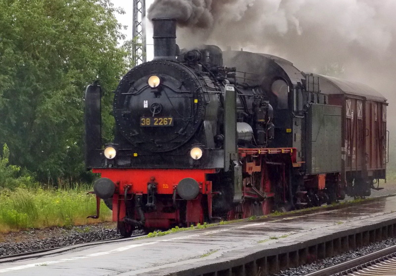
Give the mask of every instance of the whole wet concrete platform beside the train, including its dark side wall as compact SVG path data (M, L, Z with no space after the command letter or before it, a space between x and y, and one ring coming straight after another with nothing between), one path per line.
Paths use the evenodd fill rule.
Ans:
M0 276L249 276L338 254L396 236L396 197L92 245L0 264Z

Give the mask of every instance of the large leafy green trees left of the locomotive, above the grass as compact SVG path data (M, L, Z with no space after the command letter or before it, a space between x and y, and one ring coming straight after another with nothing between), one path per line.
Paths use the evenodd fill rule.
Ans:
M80 177L85 87L112 93L129 67L109 0L0 0L0 144L41 181Z

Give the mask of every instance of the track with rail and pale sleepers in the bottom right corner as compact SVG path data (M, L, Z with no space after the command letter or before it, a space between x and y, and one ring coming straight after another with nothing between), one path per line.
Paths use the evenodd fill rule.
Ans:
M396 275L396 245L305 276Z

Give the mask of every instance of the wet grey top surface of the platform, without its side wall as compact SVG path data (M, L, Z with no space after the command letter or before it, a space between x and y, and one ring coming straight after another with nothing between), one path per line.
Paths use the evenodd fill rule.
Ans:
M242 223L187 230L76 249L35 260L0 264L4 275L165 275L244 257L257 250L287 246L313 237L395 217L396 197L379 198L334 210L297 213Z

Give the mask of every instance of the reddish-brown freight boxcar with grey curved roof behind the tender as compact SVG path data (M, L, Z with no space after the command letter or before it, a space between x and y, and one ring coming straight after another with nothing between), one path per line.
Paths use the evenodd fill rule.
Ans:
M371 188L386 178L389 132L387 132L387 99L376 90L356 82L322 75L320 91L328 95L329 104L342 106L342 182L351 196Z

